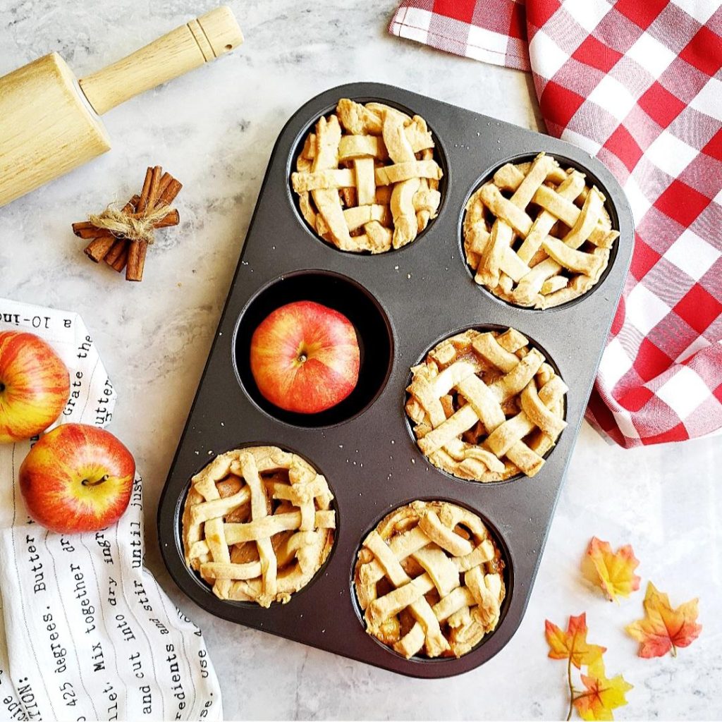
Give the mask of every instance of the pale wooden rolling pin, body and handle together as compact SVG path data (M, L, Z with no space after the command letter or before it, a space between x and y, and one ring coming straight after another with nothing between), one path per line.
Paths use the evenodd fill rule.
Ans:
M100 115L231 51L243 35L219 7L76 81L58 53L0 78L0 206L110 149Z

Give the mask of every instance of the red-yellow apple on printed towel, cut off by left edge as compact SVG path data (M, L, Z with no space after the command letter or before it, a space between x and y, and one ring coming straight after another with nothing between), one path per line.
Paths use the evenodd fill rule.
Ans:
M0 331L0 443L45 431L69 395L68 370L49 344L25 331Z

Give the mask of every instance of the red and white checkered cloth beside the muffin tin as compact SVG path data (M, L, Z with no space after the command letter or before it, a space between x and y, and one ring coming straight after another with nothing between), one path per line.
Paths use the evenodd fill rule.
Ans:
M632 268L588 419L624 446L722 431L717 0L405 0L389 30L534 75L549 133L616 175Z

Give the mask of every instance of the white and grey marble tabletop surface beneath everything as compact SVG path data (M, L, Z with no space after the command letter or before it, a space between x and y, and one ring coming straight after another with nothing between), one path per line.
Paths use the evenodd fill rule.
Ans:
M720 440L633 451L584 427L518 633L490 663L423 682L215 619L175 588L160 560L155 511L243 243L275 136L317 92L352 80L408 87L529 128L531 79L386 34L395 0L232 0L240 51L108 113L113 151L0 209L0 296L74 309L120 392L112 430L146 479L147 563L203 627L227 718L559 718L565 668L546 658L544 619L588 612L607 668L635 684L617 718L719 718L722 701ZM0 75L51 50L81 75L212 7L210 0L6 0ZM90 264L71 222L125 199L146 165L181 178L180 230L149 253L146 280L126 284ZM645 661L621 606L580 582L591 534L630 542L649 578L679 603L700 596L702 636L677 659Z

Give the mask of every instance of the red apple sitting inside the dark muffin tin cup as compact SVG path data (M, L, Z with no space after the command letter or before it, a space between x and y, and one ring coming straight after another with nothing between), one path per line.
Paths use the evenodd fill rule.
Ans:
M251 338L251 373L271 404L318 414L343 401L359 378L356 331L342 313L313 301L277 308Z

